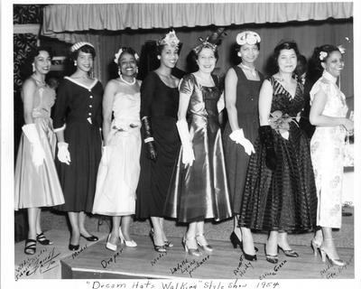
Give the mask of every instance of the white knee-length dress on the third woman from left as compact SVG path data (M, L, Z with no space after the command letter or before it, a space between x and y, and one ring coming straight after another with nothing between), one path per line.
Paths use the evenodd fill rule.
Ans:
M93 214L127 216L135 213L142 147L139 111L139 92L134 95L116 93L106 154L102 155L97 172Z

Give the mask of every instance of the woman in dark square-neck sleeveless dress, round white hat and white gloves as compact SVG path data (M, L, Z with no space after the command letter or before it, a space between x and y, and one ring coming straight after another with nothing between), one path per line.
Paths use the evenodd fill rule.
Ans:
M230 240L235 248L237 245L241 247L245 259L255 260L251 230L238 227L238 216L241 210L242 194L245 190L245 175L249 156L251 153L255 153L253 144L259 126L258 93L264 81L264 75L255 70L254 62L261 47L261 37L255 32L245 31L238 33L236 42L240 45L238 56L241 57L242 62L227 71L226 107L228 122L223 138L235 220L234 231Z

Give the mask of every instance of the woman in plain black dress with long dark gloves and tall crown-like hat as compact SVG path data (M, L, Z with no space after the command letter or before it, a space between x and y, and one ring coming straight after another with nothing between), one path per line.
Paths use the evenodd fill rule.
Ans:
M141 87L143 148L135 214L141 219L151 217L150 234L158 252L173 246L163 230L163 208L180 144L175 126L179 79L171 75L179 58L179 42L174 32L156 42L161 65L149 72Z

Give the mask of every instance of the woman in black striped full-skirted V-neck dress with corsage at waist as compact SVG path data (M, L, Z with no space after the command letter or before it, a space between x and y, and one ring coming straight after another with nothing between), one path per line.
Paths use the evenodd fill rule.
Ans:
M278 247L299 256L287 232L316 226L317 195L310 144L298 126L304 106L303 86L292 78L299 54L296 42L280 42L273 61L278 72L264 80L259 95L259 135L251 155L239 216L241 227L269 231L266 260L278 262Z

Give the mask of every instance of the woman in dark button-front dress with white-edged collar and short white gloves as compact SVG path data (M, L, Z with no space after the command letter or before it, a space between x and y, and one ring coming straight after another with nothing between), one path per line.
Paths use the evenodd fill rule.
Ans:
M56 166L65 204L58 210L68 212L71 238L69 250L79 249L80 236L96 241L85 228L86 212L93 208L97 168L101 158L103 86L89 76L96 51L91 43L71 46L71 58L77 70L65 77L58 90L54 110L54 128L58 137Z

